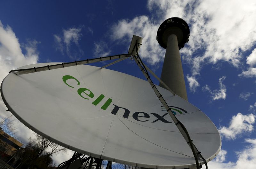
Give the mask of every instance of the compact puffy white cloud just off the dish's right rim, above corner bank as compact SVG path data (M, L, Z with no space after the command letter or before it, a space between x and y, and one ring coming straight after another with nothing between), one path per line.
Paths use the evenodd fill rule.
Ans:
M219 129L220 135L228 140L234 140L245 132L252 132L255 117L253 114L242 115L237 113L236 116L232 117L228 127L223 126Z

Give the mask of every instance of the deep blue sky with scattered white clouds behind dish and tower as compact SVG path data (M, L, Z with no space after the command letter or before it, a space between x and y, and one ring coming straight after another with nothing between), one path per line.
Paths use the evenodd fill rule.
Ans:
M188 101L212 120L222 138L209 168L255 168L254 0L1 1L0 81L10 70L32 63L127 53L134 34L143 37L140 57L160 77L165 49L156 32L171 17L183 18L190 28L190 40L180 50ZM108 68L144 79L132 60ZM10 115L5 109L0 98L1 118ZM13 119L15 136L28 142L33 131ZM71 155L53 159L58 165Z

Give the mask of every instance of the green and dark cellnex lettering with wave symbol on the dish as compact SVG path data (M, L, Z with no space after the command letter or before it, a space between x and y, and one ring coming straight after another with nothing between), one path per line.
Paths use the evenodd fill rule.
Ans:
M67 83L67 81L68 81L69 79L76 81L76 82L77 82L77 86L80 85L80 82L79 82L75 77L70 76L70 75L65 75L65 76L62 77L62 80L63 80L63 82L64 82L67 86L69 86L70 88L74 88L74 87L71 86L71 85L69 85L69 84ZM92 99L92 98L94 97L94 94L92 93L92 91L89 90L89 89L87 89L87 88L78 88L78 89L77 89L77 94L78 94L79 96L81 96L82 98L86 99L86 100L89 100L90 98ZM83 95L82 95L82 94L83 94ZM88 96L88 97L84 97L84 95L86 95L86 96ZM97 106L104 98L105 98L105 96L104 96L103 94L101 94L99 97L97 97L97 98L92 102L92 104L95 105L95 106ZM106 109L108 108L108 106L111 104L111 102L112 102L112 99L108 98L108 100L107 100L100 108L103 109L103 110L106 110ZM123 118L128 118L128 117L129 117L129 115L130 115L130 110L128 110L128 109L126 109L126 108L123 108L123 107L119 107L119 106L117 106L117 105L115 105L115 104L113 104L113 105L114 105L114 109L111 111L112 114L116 115L119 109L123 109L123 110L124 110ZM171 107L173 107L173 106L171 106ZM176 108L176 109L175 109L175 108ZM173 108L172 108L172 109L173 109ZM178 111L179 113L182 114L182 112L181 112L180 110L178 110L178 109L180 109L180 110L182 110L183 112L187 113L186 110L181 109L181 108L178 108L178 107L174 107L173 110L176 110L176 111ZM162 111L164 111L164 110L162 110ZM165 110L165 111L166 111L166 110ZM172 111L172 113L173 113L174 115L176 114L175 111ZM168 113L165 113L163 116L160 116L160 115L157 114L157 113L150 113L150 114L152 114L152 115L154 115L154 116L156 117L156 118L154 118L154 121L152 121L151 123L155 123L155 122L157 122L157 121L161 121L161 122L164 122L164 123L172 123L172 122L169 122L169 121L167 121L166 119L164 119L164 116L166 116ZM142 118L139 118L139 117L144 117L144 118L143 118L143 120L142 120ZM138 112L134 112L134 113L132 114L132 118L133 118L134 120L137 120L137 121L140 121L140 122L147 122L147 121L148 121L148 118L150 118L150 115L149 115L148 113L138 111Z

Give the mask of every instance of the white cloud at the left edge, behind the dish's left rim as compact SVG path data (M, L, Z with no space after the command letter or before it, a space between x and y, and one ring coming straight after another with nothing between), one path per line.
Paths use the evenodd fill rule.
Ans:
M24 51L21 49L19 39L12 31L12 28L8 25L5 27L0 21L0 81L3 81L10 70L36 63L38 60L37 44L38 42L36 40L28 41L22 46L25 49L25 54L23 54ZM0 97L0 118L11 115L6 109ZM12 117L12 119L17 128L15 130L15 136L22 142L27 142L28 137L33 134L33 131L20 123L15 117Z

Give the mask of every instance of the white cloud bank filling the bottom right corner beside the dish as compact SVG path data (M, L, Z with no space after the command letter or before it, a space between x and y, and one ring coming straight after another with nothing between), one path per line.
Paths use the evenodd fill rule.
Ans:
M242 151L237 151L237 160L236 162L225 162L227 151L224 150L224 153L220 151L216 159L208 162L208 168L214 169L254 169L256 164L256 139L245 139L245 143L249 144ZM220 155L220 157L219 157ZM221 159L221 160L218 160ZM224 161L222 161L224 159ZM203 165L205 169L205 165Z

